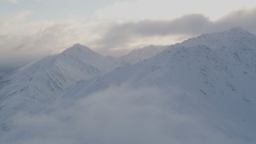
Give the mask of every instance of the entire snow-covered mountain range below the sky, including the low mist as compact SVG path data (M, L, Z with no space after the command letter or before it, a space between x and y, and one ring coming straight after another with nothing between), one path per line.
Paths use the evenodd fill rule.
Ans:
M203 34L130 63L74 47L3 78L0 143L256 142L254 34Z

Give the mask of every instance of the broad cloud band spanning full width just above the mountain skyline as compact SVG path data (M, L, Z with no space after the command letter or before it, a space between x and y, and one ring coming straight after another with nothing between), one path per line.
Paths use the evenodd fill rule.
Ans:
M59 53L74 43L90 46L102 54L154 45L170 45L186 38L242 26L256 34L256 8L234 11L211 21L202 14L170 20L138 22L90 22L84 19L31 21L30 10L0 20L0 72L13 70L37 58Z

